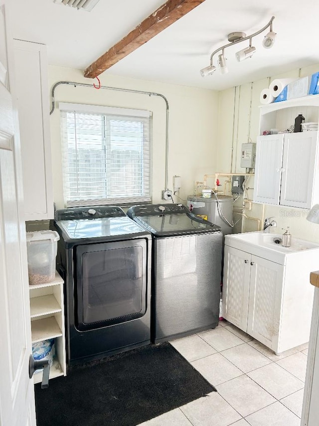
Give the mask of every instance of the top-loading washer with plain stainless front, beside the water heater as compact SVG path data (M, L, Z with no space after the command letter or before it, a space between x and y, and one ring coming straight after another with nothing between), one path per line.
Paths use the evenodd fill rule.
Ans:
M153 235L152 341L215 328L223 234L182 204L133 206L127 215Z

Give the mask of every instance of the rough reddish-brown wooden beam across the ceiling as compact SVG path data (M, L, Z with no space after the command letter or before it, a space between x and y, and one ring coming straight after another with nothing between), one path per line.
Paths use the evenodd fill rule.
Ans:
M142 46L205 0L168 0L135 29L89 65L84 76L95 78L103 71Z

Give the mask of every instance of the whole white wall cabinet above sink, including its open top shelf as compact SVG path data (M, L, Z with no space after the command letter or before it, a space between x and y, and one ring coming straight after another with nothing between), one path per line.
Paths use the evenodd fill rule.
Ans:
M298 114L317 122L319 95L261 107L257 137L254 202L310 209L319 200L318 131L262 135L288 129Z

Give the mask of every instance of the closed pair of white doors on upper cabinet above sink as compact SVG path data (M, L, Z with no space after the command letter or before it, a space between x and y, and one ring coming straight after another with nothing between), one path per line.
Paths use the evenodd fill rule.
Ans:
M258 136L254 201L310 209L318 193L318 132Z

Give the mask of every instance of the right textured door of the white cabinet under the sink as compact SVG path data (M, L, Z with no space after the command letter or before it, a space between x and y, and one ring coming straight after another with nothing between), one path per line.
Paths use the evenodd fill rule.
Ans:
M284 266L251 256L247 333L277 352Z

